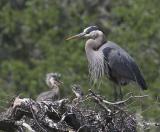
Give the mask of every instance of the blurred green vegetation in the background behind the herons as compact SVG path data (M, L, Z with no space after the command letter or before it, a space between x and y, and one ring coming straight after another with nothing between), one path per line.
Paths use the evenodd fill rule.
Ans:
M123 93L148 94L129 106L146 119L160 121L160 12L159 0L1 0L0 104L14 95L35 98L47 90L45 74L60 72L62 96L72 96L70 85L91 87L84 40L65 41L89 25L98 25L107 39L126 49L138 63L149 85ZM112 85L104 79L99 92L113 99Z

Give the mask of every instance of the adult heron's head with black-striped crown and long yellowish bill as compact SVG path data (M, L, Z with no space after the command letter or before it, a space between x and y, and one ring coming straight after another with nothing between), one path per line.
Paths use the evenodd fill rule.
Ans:
M76 38L96 39L97 37L101 35L103 35L103 32L100 31L97 26L90 26L90 27L85 28L82 33L71 36L67 38L67 40L76 39Z

